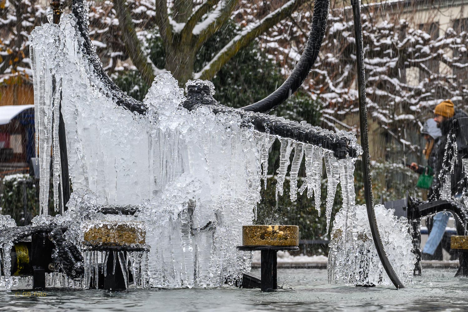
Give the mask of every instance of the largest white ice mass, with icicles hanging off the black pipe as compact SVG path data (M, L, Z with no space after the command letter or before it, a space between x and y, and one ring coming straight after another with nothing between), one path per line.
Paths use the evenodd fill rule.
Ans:
M214 114L204 106L191 111L184 109L183 89L170 73L155 78L144 100L146 115L118 107L115 93L106 91L85 54L72 15L62 16L59 25L37 27L29 39L41 170L41 215L35 222L66 226L66 242L81 246L87 220L143 221L149 250L127 255L128 259L124 254L112 254L115 265L123 268L131 263L131 271L138 276L136 285L172 288L236 283L241 273L249 270L251 260L251 254L235 248L241 245L241 226L251 224L256 217L261 179L266 180L268 170L268 151L278 137L246 126L239 114ZM205 84L212 89L210 82L190 83ZM59 103L65 122L73 193L68 210L52 218L47 215L51 207L47 206L46 191L50 164L54 208L62 211L58 207L62 184ZM314 130L330 133L318 127ZM358 148L353 134L337 135L346 136ZM324 159L328 175L327 222L339 182L344 196L342 211L352 211L355 159L337 160L333 151L321 146L278 139L281 154L277 196L283 194L290 154L294 152L291 199L307 189L307 196L314 196L315 208L320 212ZM298 189L297 175L303 157L306 179ZM109 205L133 205L138 213L124 217L98 211L99 207ZM362 218L365 219L364 215ZM352 218L345 220L346 226L357 224ZM2 224L9 226L7 221ZM344 231L346 241L357 240L355 232L351 232L347 236ZM11 238L2 240L0 247L4 252L9 250L6 245L11 241ZM98 265L110 254L81 248L83 279L77 282L55 274L48 277L49 284L88 288L97 283ZM6 266L3 270L9 272ZM9 277L8 281L11 284Z

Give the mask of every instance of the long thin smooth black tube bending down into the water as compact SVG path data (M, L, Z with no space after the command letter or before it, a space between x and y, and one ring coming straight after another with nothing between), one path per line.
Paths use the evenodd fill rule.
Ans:
M372 238L374 241L377 254L380 261L387 272L388 277L397 289L405 288L392 268L387 254L383 247L382 239L380 238L377 219L375 218L375 210L373 209L372 181L369 156L369 140L367 131L367 108L366 108L366 75L364 70L364 47L362 42L362 25L361 25L361 10L359 0L351 0L352 13L354 18L354 32L356 33L356 59L358 62L358 93L359 93L359 124L361 130L361 145L363 149L362 155L362 171L364 178L364 196L366 197L367 217L371 226Z

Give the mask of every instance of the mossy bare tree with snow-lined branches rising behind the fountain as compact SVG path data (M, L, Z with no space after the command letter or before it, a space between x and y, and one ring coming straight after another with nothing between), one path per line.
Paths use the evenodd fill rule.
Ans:
M247 25L218 54L194 73L194 62L198 50L232 18L239 7L239 0L156 0L154 7L141 7L143 1L114 0L122 39L128 56L147 83L162 69L156 68L148 58L137 34L137 25L132 16L135 12L150 11L164 42L166 68L181 84L189 79L212 79L219 69L237 52L249 45L268 29L291 16L301 5L310 0L273 1L280 2L268 14ZM169 4L169 6L168 6ZM242 4L242 2L241 2ZM273 7L274 8L274 7Z

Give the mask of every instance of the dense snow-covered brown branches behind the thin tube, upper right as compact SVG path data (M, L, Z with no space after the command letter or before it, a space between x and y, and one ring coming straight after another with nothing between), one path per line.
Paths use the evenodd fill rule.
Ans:
M412 147L405 127L419 128L439 102L451 99L456 108L468 108L467 32L448 28L434 37L396 17L385 21L371 13L361 18L368 111L389 136ZM263 49L283 63L286 73L299 60L310 20L307 14L293 15L261 36ZM331 10L321 53L304 88L323 102L323 123L335 129L355 131L344 123L358 111L355 53L351 11Z

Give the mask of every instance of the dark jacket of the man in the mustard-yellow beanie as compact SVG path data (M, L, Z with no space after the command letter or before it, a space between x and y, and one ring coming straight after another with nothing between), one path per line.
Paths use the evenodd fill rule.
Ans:
M444 120L442 123L440 123L440 130L442 131L442 136L439 138L439 140L434 144L433 151L431 152L434 154L435 159L432 160L434 163L434 181L432 182L432 186L435 187L433 191L436 191L437 197L438 195L438 190L439 190L439 173L443 168L443 161L444 161L444 155L446 152L446 144L447 144L447 135L450 132L450 129L453 127L453 120L461 118L461 117L468 117L468 115L462 111L462 110L455 110L455 115L452 118L449 118L447 120ZM455 132L455 136L457 136L458 133ZM449 146L452 147L452 146ZM453 170L453 173L450 174L451 178L451 187L452 187L452 195L455 195L458 192L458 187L459 187L459 182L463 180L465 177L465 174L463 172L463 166L461 162L461 155L459 153L456 154L456 157L458 158L458 161L455 163L455 168Z

